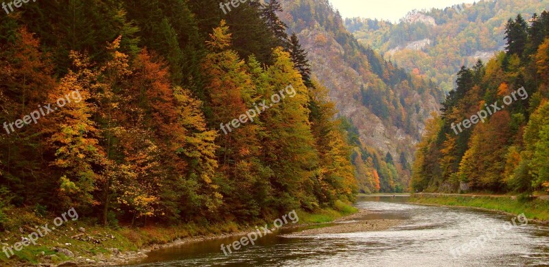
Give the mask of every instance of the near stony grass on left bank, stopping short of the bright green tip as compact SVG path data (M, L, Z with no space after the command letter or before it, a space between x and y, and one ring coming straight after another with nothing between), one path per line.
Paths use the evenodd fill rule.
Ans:
M30 209L12 209L8 221L5 221L3 227L9 231L0 231L0 248L3 246L14 246L16 242L21 241L21 237L28 236L35 227L49 225L52 227L53 218L40 218ZM53 216L53 214L50 214ZM25 233L21 233L19 227ZM84 227L85 236L92 236L100 240L100 244L94 244L89 241L80 241L71 238ZM215 236L222 233L235 233L246 229L247 225L237 225L233 222L211 224L205 226L195 225L193 223L174 226L150 225L148 227L117 227L116 229L96 225L93 220L69 220L60 227L56 227L47 235L38 238L36 245L23 246L21 251L12 249L14 255L8 257L0 249L0 266L12 266L16 262L28 262L38 264L43 262L43 257L54 255L52 262L59 264L70 260L70 257L62 253L53 251L54 247L69 249L75 254L75 257L93 258L98 254L110 255L110 249L119 249L119 251L138 251L145 246L152 244L167 244L178 238L192 238L198 236ZM108 236L108 237L107 237ZM110 236L114 236L111 238ZM67 244L70 243L70 244ZM44 252L44 255L41 253Z

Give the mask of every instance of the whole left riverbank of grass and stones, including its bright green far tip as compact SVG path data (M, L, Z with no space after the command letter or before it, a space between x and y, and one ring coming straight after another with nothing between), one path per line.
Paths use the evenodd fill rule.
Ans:
M299 224L328 223L342 216L357 212L349 203L338 201L334 209L318 209L316 212L296 211ZM48 224L49 229L54 227L54 217L39 216L31 209L12 209L4 221L5 231L0 231L1 246L14 246L36 229ZM82 257L83 259L106 259L113 251L126 253L139 251L154 245L169 244L178 239L201 237L226 236L244 231L255 231L255 227L268 223L272 226L273 220L259 220L253 223L237 224L233 222L198 225L187 223L182 225L149 225L148 227L103 227L96 225L94 220L79 218L68 220L60 227L56 227L47 235L40 237L35 244L23 246L21 251L15 251L8 259L0 251L0 266L22 266L25 264L60 264ZM289 224L291 224L289 222ZM84 230L84 231L82 231ZM78 236L78 237L75 237ZM75 237L75 238L74 238ZM54 248L58 248L54 251ZM73 255L65 255L59 249L67 249Z

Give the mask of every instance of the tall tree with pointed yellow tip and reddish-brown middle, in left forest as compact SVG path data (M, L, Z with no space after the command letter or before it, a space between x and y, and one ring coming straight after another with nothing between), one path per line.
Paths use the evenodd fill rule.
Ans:
M246 65L231 49L231 34L224 21L213 29L207 47L209 53L202 69L207 73L205 92L209 107L215 114L211 122L213 127L220 128L218 159L225 205L227 210L237 207L231 212L240 220L257 218L270 201L268 179L272 175L260 160L264 153L259 141L263 114L256 112L254 106L261 103L255 84L262 83L264 71L255 58L250 58ZM257 80L248 70L259 76ZM249 110L253 110L255 116L248 117ZM224 215L231 216L229 212Z

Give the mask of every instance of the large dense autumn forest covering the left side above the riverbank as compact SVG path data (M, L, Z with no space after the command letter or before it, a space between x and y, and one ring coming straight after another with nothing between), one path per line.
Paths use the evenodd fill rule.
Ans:
M0 16L0 229L19 208L139 226L354 199L349 133L281 5L218 5L40 1ZM290 85L294 97L220 130Z

